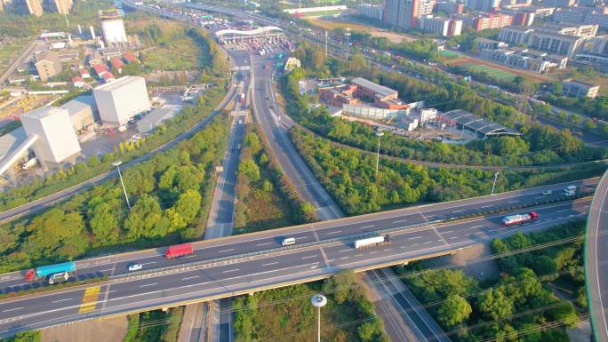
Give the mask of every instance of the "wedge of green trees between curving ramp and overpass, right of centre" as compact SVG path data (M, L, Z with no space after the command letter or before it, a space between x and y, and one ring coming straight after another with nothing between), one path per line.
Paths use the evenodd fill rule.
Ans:
M376 176L376 155L333 146L329 140L300 128L292 128L290 137L316 179L350 215L488 195L494 179L491 171L427 168L388 158L380 158ZM552 184L603 171L603 167L595 166L580 171L503 171L496 189L500 192Z

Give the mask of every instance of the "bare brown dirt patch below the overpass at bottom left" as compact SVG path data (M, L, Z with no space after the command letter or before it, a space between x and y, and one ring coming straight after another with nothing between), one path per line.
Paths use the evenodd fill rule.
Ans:
M42 342L121 342L126 330L126 317L77 322L43 330Z

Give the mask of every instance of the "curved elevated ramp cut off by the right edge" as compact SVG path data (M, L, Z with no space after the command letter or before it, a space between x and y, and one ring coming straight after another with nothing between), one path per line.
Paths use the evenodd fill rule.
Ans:
M585 281L594 336L608 342L608 172L589 208L585 240Z

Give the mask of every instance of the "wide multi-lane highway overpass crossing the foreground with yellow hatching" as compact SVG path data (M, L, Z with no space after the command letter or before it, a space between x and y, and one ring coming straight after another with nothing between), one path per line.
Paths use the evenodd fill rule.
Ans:
M589 194L598 179L571 182ZM159 307L227 298L300 282L323 279L341 269L363 271L405 261L430 258L517 230L540 229L582 218L589 199L565 200L536 207L540 220L523 227L502 227L504 213L463 218L500 208L564 200L564 184L536 187L436 203L396 211L286 227L195 243L195 254L165 259L164 249L136 251L77 263L76 277L108 275L107 282L52 290L0 300L0 337L19 330L41 329L100 316L123 315ZM542 192L553 190L552 195ZM521 209L517 212L529 211ZM356 250L355 236L392 231L388 246ZM285 236L297 244L282 248ZM137 261L140 272L128 274ZM1 289L28 288L22 274L2 274Z

